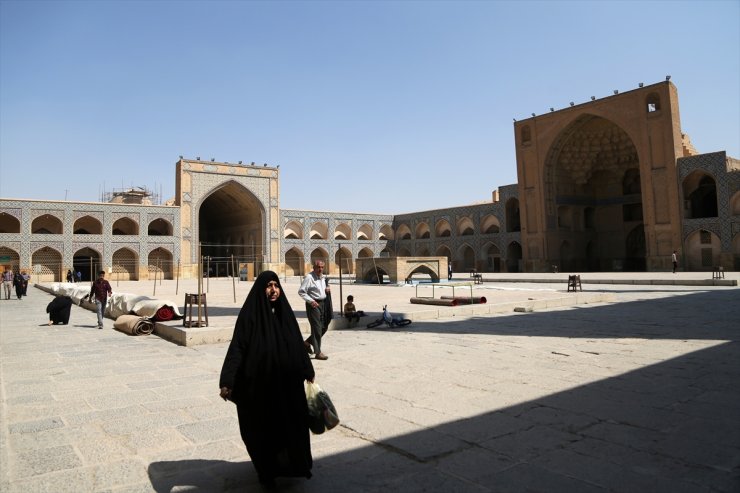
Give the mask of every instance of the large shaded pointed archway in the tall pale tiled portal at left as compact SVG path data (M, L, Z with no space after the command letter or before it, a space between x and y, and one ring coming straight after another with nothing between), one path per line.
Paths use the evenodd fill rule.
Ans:
M261 264L266 252L264 229L262 203L233 181L214 189L198 208L201 255L210 257L216 275L227 275L232 255L238 264Z

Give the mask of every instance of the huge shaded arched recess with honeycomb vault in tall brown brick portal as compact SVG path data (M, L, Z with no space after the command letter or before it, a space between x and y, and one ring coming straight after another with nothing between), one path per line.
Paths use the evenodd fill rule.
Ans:
M620 126L595 115L576 118L548 150L544 181L553 264L566 271L646 268L640 161Z

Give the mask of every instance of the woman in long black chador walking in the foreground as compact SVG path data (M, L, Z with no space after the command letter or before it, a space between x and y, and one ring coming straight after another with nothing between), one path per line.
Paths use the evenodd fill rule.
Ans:
M314 370L298 321L272 271L259 275L239 312L221 370L221 397L236 403L239 430L260 483L311 477L304 380Z

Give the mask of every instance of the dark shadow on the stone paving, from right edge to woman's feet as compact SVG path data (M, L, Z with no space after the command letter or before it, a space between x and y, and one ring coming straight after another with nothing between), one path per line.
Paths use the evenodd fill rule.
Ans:
M739 295L737 290L699 293L481 318L459 331L454 327L463 324L449 324L450 333L707 339L716 344L570 390L323 457L315 461L314 478L286 480L278 488L740 491ZM689 317L700 322L689 325ZM434 333L445 326L414 323L402 330ZM593 356L598 358L598 353ZM454 404L473 397L451 387L447 398ZM245 462L155 462L149 475L158 492L191 491L185 489L188 486L192 491L259 491L256 474Z

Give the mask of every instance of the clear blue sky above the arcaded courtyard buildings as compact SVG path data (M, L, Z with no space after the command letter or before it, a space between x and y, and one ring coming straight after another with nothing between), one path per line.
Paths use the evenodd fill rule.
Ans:
M740 2L0 0L0 197L174 196L280 165L281 207L402 213L516 183L512 118L678 87L740 158Z

